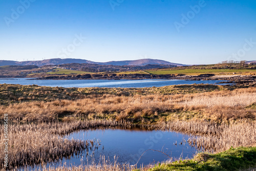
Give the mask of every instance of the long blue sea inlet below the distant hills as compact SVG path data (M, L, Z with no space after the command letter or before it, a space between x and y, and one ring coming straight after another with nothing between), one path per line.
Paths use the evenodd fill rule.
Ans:
M28 78L13 78L13 79L0 79L0 84L22 84L49 87L64 87L64 88L86 88L86 87L104 87L104 88L143 88L143 87L162 87L178 84L194 84L194 83L209 83L215 84L223 80L177 80L177 79L140 79L140 80L35 80Z

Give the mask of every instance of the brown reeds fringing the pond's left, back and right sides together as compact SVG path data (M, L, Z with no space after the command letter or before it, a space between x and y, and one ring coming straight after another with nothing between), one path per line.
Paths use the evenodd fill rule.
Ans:
M190 145L206 151L223 151L231 146L247 146L256 142L255 121L240 120L230 124L209 121L169 121L151 125L137 125L148 130L178 131L192 135L188 140ZM85 149L93 150L97 141L82 141L65 139L59 135L66 135L73 131L112 128L122 126L131 128L134 124L126 121L111 120L69 120L67 122L48 122L37 124L13 123L9 126L9 167L46 164L63 157L78 155ZM197 135L193 137L193 135ZM1 131L1 140L3 131ZM3 156L4 149L0 149ZM3 158L0 159L3 168ZM119 168L117 165L109 168ZM89 169L90 168L90 169ZM88 167L86 170L92 170ZM68 168L66 168L68 170ZM78 167L76 167L78 169ZM108 169L106 169L108 170ZM110 169L109 169L110 170Z

